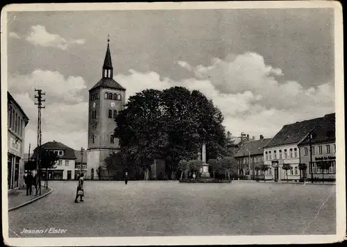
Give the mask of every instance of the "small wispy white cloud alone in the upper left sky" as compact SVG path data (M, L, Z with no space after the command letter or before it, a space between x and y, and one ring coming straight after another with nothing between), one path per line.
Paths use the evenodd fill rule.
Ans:
M66 50L71 44L85 44L85 40L66 40L58 34L49 33L41 25L31 26L31 33L26 37L26 41L35 46L54 47Z

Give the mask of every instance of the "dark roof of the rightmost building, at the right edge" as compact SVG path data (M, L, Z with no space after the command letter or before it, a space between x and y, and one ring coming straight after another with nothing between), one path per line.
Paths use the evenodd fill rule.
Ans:
M335 142L335 139L335 113L326 114L316 126L314 126L311 144ZM307 135L299 145L308 144L310 144L310 137Z

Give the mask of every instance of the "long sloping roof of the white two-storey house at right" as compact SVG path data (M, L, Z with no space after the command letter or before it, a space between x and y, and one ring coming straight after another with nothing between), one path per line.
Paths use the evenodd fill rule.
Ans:
M331 119L331 114L328 115L328 118ZM271 141L264 146L264 148L287 144L298 144L303 141L303 138L305 138L314 126L322 121L322 119L323 117L319 117L316 119L287 124L282 127L280 132L278 132Z

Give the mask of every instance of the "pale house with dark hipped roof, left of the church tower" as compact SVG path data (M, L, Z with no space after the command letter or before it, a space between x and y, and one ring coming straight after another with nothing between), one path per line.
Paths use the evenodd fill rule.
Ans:
M58 160L56 165L48 169L48 179L49 180L73 180L75 178L75 160L76 156L74 149L60 142L46 142L42 144L41 150L43 151L53 151L58 155ZM38 153L38 148L33 151L32 158ZM42 180L46 180L46 169L42 169Z

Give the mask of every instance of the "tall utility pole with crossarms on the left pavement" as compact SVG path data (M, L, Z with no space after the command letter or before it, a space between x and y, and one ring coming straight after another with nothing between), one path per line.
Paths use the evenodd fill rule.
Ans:
M36 194L39 193L41 195L41 141L42 141L42 133L41 133L41 109L45 108L42 105L42 102L46 101L42 99L42 95L45 93L42 90L35 90L37 95L35 95L35 99L37 99L37 152L36 152L36 174L37 174L37 189Z

